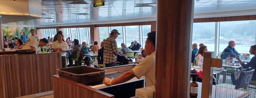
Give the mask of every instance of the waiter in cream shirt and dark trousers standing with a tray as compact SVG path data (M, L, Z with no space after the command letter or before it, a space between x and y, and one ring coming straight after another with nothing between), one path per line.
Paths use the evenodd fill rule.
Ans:
M52 43L52 52L59 52L61 50L68 49L67 42L63 39L63 35L61 32L57 33L57 41ZM61 52L61 62L62 62L62 68L67 67L67 61L66 61L66 52Z

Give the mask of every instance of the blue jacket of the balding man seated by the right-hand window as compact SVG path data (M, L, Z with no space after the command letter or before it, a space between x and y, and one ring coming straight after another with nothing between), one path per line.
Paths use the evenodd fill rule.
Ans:
M228 55L230 55L230 57L235 58L235 55L240 55L240 54L236 51L235 48L232 48L231 46L227 46L227 47L223 50L223 52L222 52L222 54L220 55L220 57L221 57L222 59L226 59L226 58L228 57Z

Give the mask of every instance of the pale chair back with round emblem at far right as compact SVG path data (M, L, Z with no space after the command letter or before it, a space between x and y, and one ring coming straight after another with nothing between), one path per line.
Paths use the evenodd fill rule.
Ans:
M247 88L249 86L253 72L254 72L254 69L253 70L246 69L246 70L240 71L240 76L237 80L235 89Z

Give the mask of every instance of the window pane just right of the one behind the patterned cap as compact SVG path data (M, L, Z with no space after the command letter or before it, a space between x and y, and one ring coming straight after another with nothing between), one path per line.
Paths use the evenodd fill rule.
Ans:
M139 26L125 26L125 39L127 47L130 46L131 42L135 40L140 42Z

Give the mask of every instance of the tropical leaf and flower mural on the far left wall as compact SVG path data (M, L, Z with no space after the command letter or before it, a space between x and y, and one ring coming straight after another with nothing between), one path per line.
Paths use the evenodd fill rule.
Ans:
M7 27L7 26L2 26L3 28L3 36L12 36L13 38L17 36L20 38L20 36L23 34L23 31L26 32L27 35L30 35L30 30L34 29L35 34L36 34L36 28L35 27Z

